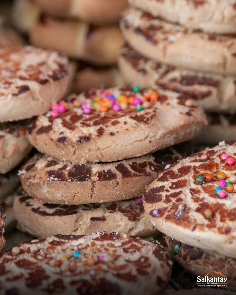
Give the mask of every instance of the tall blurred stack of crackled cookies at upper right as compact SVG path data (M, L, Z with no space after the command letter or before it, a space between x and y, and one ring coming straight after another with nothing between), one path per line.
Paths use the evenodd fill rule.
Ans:
M197 100L209 113L198 142L235 139L235 1L129 3L120 21L127 44L119 53L127 85L168 89Z

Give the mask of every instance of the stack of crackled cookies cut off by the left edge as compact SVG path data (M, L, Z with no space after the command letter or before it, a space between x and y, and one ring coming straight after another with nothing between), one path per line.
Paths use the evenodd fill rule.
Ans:
M13 35L4 32L9 45ZM25 136L25 119L47 112L61 98L68 84L67 71L67 58L54 51L31 46L0 49L0 201L6 231L14 221L17 166L32 148Z

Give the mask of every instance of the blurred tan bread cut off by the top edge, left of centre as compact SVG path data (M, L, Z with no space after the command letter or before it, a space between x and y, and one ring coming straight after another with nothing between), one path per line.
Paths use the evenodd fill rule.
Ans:
M35 3L52 15L73 17L92 24L117 22L127 0L36 0Z

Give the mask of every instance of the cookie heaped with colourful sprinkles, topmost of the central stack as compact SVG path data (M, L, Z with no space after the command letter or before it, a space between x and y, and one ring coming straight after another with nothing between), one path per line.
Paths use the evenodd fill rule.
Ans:
M105 103L99 107L108 97L91 106L99 107L100 111L75 107L81 102L89 106L94 99L106 95L114 97L110 98L115 102L112 106L109 101L110 109ZM118 110L119 99L126 109ZM135 104L122 102L128 99ZM136 105L142 101L145 105ZM200 106L188 96L173 92L157 94L151 89L133 91L119 87L92 89L79 96L71 95L67 102L69 109L58 117L48 112L33 120L28 125L27 137L37 150L75 163L112 162L160 150L193 138L206 122ZM148 108L142 109L146 104Z

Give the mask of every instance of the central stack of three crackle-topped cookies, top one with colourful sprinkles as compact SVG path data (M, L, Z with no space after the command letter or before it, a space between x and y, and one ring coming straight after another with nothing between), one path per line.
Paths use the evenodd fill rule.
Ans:
M14 200L18 226L37 237L156 233L140 195L186 155L178 148L152 152L193 138L205 123L203 109L188 100L174 92L117 87L53 104L27 126L27 138L43 154L19 171L24 191Z

